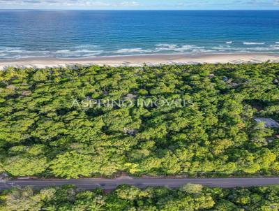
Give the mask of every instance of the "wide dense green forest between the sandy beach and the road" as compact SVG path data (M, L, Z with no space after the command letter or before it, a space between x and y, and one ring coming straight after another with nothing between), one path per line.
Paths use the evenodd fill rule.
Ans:
M278 129L254 118L279 121L278 99L279 64L271 63L8 68L0 71L0 172L277 175ZM119 100L126 106L96 103ZM217 192L202 197L223 193ZM235 197L229 200L242 201ZM249 203L262 200L253 197ZM172 196L165 201L176 203ZM220 209L225 204L235 206L216 203Z

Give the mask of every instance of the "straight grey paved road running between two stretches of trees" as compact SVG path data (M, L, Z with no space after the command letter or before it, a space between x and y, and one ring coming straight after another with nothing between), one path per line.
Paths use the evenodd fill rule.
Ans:
M258 178L206 178L206 179L142 179L121 177L114 180L107 179L79 179L79 180L10 180L0 182L0 190L10 187L33 186L43 188L48 186L61 186L64 184L75 184L80 189L94 189L101 187L103 189L115 189L120 184L131 184L136 187L165 186L169 188L180 187L186 183L203 184L209 187L251 187L265 186L270 184L279 184L279 177L258 177Z

